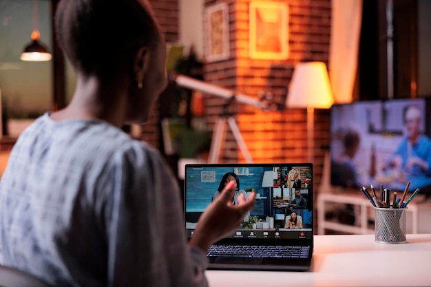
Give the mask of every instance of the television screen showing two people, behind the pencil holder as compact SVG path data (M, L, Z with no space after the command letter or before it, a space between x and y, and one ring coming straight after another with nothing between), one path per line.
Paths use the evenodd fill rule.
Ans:
M431 193L430 111L425 98L333 105L331 184Z

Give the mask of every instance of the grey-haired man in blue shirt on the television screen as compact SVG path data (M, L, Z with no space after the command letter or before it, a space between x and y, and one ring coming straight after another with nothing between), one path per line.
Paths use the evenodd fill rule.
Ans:
M416 106L409 106L403 120L406 137L389 159L388 166L406 174L407 181L419 180L418 186L431 184L431 141L421 134L421 111Z

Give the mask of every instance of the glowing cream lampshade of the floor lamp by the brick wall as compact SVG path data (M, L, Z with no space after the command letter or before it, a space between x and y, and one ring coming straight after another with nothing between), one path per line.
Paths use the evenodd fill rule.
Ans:
M328 109L333 102L325 63L297 64L293 71L286 107Z

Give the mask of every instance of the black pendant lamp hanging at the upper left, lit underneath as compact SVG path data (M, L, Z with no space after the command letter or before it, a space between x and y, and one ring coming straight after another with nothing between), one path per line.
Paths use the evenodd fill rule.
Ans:
M23 54L21 54L22 61L50 61L52 56L48 50L39 43L41 33L38 29L38 11L37 0L33 0L33 32L31 35L32 42L24 47Z

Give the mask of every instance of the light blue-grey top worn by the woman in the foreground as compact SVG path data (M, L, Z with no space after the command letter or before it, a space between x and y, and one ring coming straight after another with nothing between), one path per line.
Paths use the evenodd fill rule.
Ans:
M101 120L26 129L0 182L0 264L54 286L207 286L180 191L145 142Z

